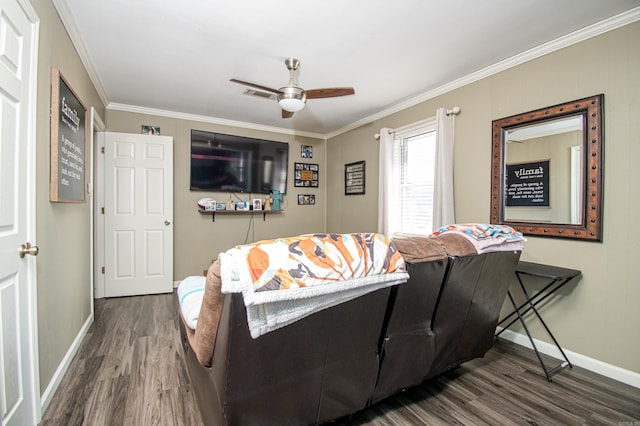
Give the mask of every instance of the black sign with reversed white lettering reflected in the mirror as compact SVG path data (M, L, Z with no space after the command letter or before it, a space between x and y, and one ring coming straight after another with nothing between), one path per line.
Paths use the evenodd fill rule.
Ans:
M549 160L507 164L508 207L549 207Z

